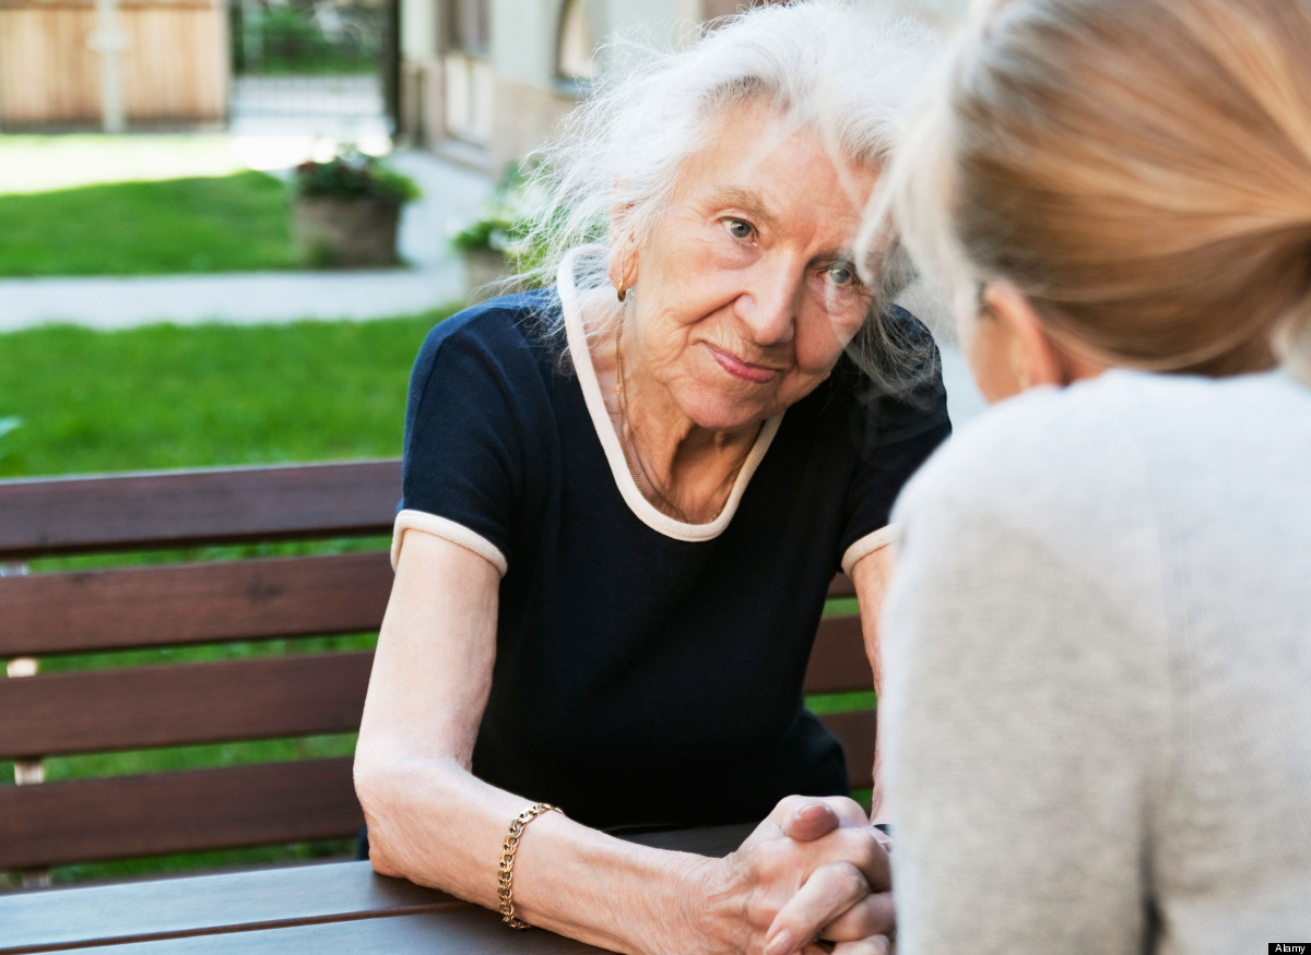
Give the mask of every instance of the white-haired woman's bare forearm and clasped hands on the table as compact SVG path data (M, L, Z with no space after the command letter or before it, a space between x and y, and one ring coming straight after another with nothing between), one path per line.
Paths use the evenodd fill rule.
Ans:
M502 842L531 800L451 760L384 762L364 752L357 766L375 867L497 909ZM864 823L848 799L789 796L718 859L544 812L515 852L514 914L637 955L791 955L826 926L834 941L864 938L891 926L890 896L880 895L888 855ZM789 907L802 888L809 901Z

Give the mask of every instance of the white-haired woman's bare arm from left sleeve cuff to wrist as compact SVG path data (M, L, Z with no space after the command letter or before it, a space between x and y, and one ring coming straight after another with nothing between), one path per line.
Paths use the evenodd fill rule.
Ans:
M406 534L355 752L375 867L490 909L510 821L538 799L469 772L492 685L498 587L482 557ZM707 862L551 812L527 825L515 854L515 914L620 951L692 952L670 933L700 910L705 893L692 887Z

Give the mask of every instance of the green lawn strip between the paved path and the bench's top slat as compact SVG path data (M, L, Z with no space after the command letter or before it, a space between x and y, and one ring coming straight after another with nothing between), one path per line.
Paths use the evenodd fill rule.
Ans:
M388 457L447 312L371 322L0 335L0 477Z

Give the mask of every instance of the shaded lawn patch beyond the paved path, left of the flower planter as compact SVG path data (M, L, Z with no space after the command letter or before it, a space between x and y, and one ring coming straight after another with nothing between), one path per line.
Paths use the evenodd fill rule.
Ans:
M273 176L113 182L0 195L0 276L296 269Z

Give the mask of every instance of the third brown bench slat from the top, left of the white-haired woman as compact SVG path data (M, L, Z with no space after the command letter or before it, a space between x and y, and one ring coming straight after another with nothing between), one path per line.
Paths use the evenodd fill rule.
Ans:
M351 732L372 660L302 654L5 680L0 758Z

